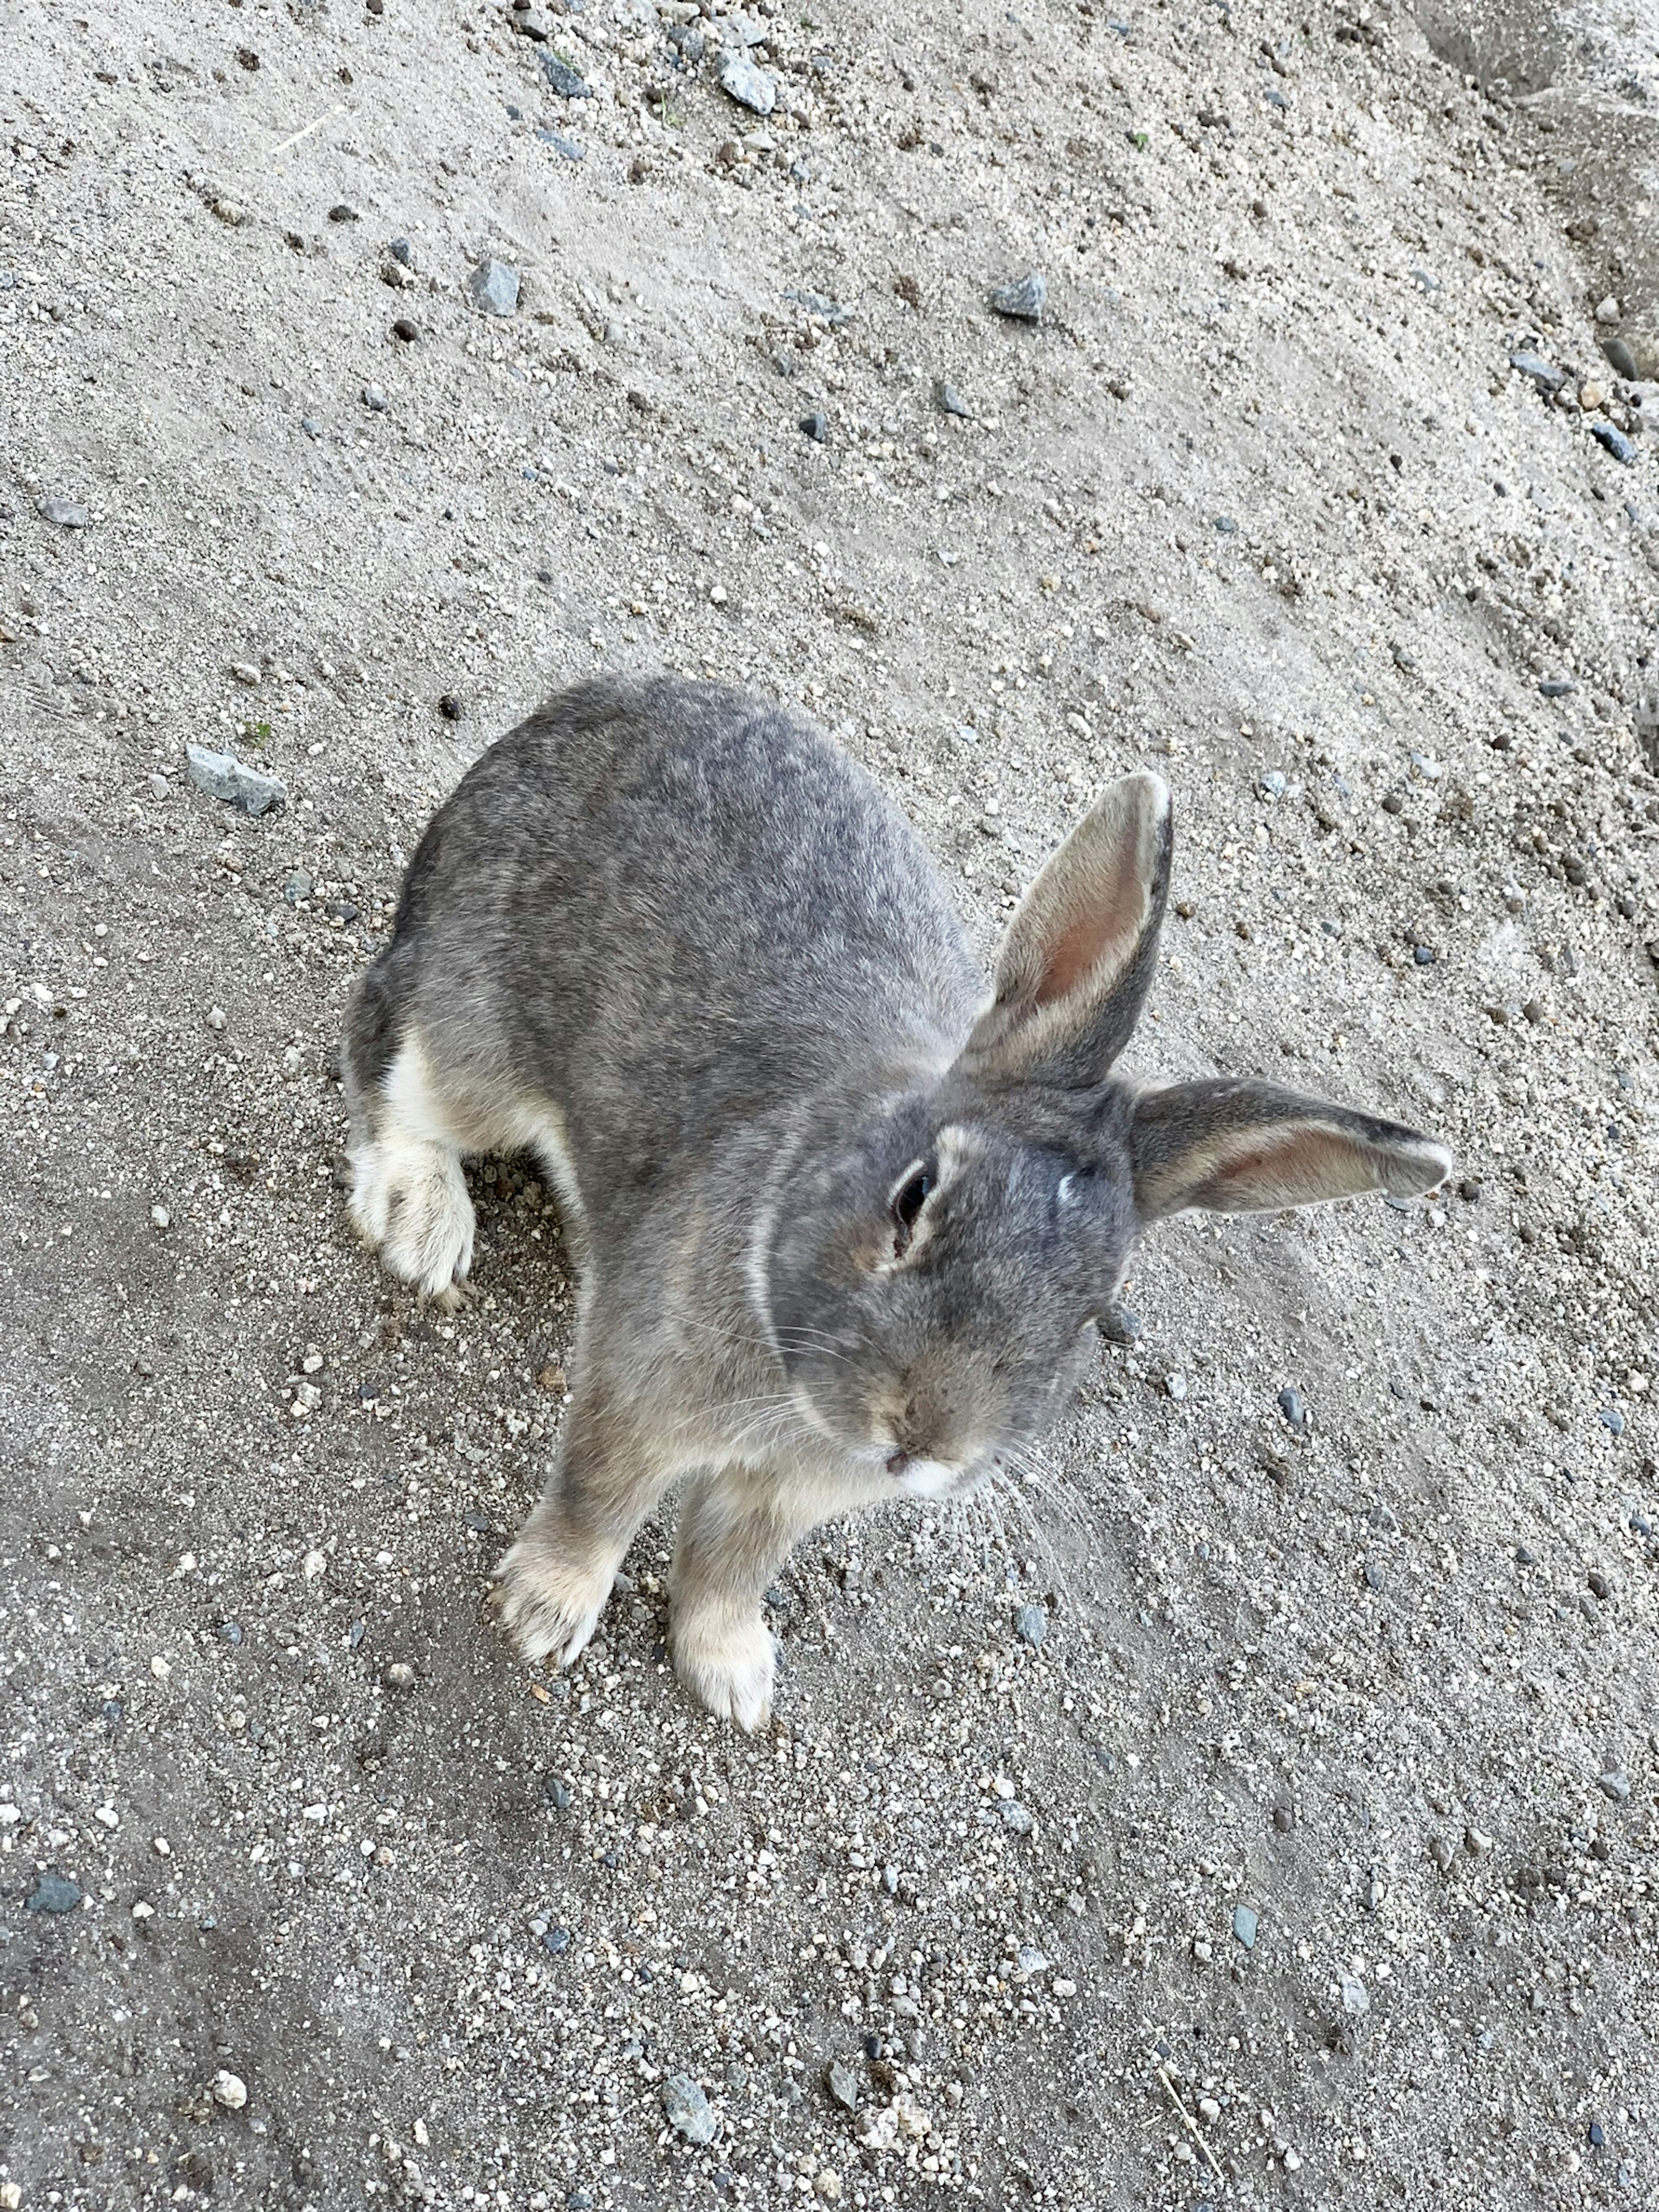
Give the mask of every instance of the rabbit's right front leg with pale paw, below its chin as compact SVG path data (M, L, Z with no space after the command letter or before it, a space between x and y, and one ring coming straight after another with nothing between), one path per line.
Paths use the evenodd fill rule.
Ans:
M772 1712L776 1663L761 1599L816 1520L750 1469L697 1482L679 1513L668 1652L692 1697L750 1734Z

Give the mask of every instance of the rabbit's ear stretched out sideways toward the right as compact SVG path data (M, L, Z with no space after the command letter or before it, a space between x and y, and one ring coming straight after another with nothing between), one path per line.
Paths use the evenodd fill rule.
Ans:
M1416 1128L1256 1082L1144 1093L1130 1124L1130 1164L1141 1221L1188 1208L1259 1214L1363 1190L1411 1199L1451 1172L1444 1146Z

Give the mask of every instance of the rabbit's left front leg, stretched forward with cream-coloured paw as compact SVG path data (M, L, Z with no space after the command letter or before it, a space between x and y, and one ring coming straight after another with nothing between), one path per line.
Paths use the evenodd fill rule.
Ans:
M495 1568L502 1621L526 1659L571 1666L672 1475L624 1400L597 1380L577 1385L560 1467Z

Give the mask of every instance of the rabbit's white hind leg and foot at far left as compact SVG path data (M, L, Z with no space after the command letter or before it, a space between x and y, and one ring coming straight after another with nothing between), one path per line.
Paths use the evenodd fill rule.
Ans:
M416 1029L385 1077L356 1102L349 1212L383 1265L438 1305L460 1303L473 1261L473 1201L460 1170L460 1130L431 1079Z

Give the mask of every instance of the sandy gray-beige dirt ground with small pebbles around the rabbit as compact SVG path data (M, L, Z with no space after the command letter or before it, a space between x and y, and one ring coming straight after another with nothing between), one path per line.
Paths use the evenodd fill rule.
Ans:
M0 2205L1650 2203L1646 142L1380 0L686 15L0 4ZM752 1743L659 1528L568 1681L491 1621L526 1164L456 1318L338 1188L422 818L602 666L810 701L987 951L1159 768L1137 1068L1458 1152L1148 1241L1026 1517L801 1546Z

